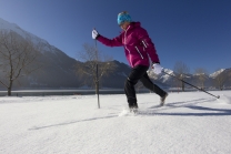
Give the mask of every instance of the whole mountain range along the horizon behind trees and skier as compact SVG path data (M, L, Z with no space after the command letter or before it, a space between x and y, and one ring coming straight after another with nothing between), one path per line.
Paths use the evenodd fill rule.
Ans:
M0 18L0 31L13 31L22 38L29 37L34 44L41 44L41 55L39 57L40 62L42 62L41 68L38 71L32 72L29 75L24 75L20 78L19 82L14 83L13 88L41 88L41 89L67 89L67 88L82 88L82 86L92 86L92 83L84 83L83 79L89 78L84 76L80 78L76 73L74 65L77 63L82 63L77 61L70 57L68 57L64 52L59 50L58 48L49 44L48 41L22 30L19 25L14 23L10 23ZM121 63L119 61L113 61L117 65L116 70L107 76L103 76L100 81L101 88L117 88L123 89L124 81L130 73L130 66ZM0 68L0 79L1 75L1 68ZM169 74L175 75L175 72L169 69L164 69L164 71ZM160 75L154 75L152 71L148 72L151 80L154 81L155 84L162 88L172 88L179 86L175 85L177 81L174 78L161 73ZM205 75L205 86L213 86L213 80L215 76L224 74L231 74L231 69L221 69L210 75ZM199 74L187 74L184 79L187 82L192 83L197 86L200 86ZM227 86L231 85L231 81L228 80L225 82Z

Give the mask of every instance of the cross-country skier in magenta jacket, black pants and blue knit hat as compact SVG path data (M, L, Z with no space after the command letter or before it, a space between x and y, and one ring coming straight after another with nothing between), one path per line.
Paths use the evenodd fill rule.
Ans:
M124 84L130 111L138 109L134 85L139 80L147 89L160 95L160 105L163 105L168 93L153 84L147 74L150 66L149 57L154 73L159 74L162 71L157 50L148 32L141 27L140 22L133 22L127 11L118 14L118 24L123 30L119 37L107 39L94 29L92 38L108 47L124 47L125 57L132 68Z

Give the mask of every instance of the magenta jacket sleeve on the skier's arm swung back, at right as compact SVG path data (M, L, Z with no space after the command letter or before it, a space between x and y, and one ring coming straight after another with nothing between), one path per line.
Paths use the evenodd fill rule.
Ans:
M149 38L148 32L143 28L140 28L137 30L135 34L137 34L137 38L143 44L143 47L145 48L147 53L151 58L151 61L153 63L160 63L159 57L157 54L157 50L155 50L154 44L152 43L151 39Z

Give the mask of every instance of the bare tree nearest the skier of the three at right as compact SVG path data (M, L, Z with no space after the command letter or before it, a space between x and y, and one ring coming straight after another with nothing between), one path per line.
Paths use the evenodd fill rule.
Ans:
M184 80L187 78L187 74L190 72L189 66L185 63L180 62L180 61L175 63L173 70L177 73L175 76L181 80ZM184 82L179 81L179 80L175 80L175 82L179 86L181 84L182 91L184 91Z

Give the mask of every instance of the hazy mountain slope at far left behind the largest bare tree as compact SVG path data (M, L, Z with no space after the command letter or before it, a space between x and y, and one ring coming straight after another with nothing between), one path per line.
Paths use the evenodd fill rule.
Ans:
M41 54L38 58L42 65L38 71L22 76L13 88L77 88L80 82L76 75L74 64L78 62L68 57L46 40L22 30L19 25L0 18L0 30L12 31L22 38L30 38L33 44L40 43Z

